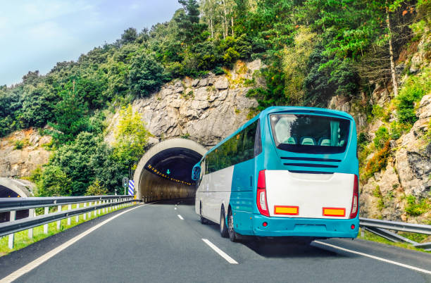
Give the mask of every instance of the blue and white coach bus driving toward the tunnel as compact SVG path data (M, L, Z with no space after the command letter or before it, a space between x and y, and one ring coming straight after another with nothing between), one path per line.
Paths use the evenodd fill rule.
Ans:
M196 213L235 241L355 238L356 124L342 111L270 107L194 165Z

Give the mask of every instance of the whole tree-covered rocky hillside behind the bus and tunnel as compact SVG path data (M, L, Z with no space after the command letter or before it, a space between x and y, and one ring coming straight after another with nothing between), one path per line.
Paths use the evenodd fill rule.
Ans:
M167 23L129 28L77 61L0 87L0 174L31 175L39 195L85 194L90 184L113 192L143 144L212 129L199 140L211 146L228 134L199 124L216 103L232 108L235 126L268 106L320 106L356 119L363 215L431 221L430 1L180 4ZM241 96L226 102L208 80ZM21 138L30 128L52 141ZM28 158L33 151L44 157ZM12 153L23 169L11 170Z

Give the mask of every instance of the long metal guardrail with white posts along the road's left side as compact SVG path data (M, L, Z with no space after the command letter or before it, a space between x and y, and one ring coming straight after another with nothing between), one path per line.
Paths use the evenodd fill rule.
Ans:
M125 207L129 203L137 202L133 196L58 196L58 197L41 197L41 198L1 198L0 213L10 212L8 222L0 223L0 237L8 235L8 247L13 249L16 232L29 230L28 237L33 237L34 227L44 225L44 234L48 234L48 223L57 221L57 229L61 227L61 220L75 216L78 222L79 215L84 215L83 219L90 217L93 211L94 216L102 212L110 212L112 208ZM80 203L83 206L80 207ZM87 206L88 203L88 206ZM72 204L76 208L72 209ZM68 205L68 210L61 210L61 207ZM57 211L49 213L49 207L57 206ZM43 215L35 215L35 208L44 208ZM17 210L29 210L29 217L15 220Z

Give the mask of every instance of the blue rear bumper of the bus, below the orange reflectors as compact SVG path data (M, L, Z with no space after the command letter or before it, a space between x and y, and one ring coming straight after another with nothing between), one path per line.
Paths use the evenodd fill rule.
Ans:
M267 223L266 227L263 222ZM258 237L356 238L358 231L359 218L268 218L263 215L253 218L253 234Z

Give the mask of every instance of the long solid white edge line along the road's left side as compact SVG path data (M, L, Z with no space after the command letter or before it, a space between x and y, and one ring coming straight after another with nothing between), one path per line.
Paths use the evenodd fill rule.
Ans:
M155 203L157 201L154 201L153 203ZM146 203L142 206L147 206L151 203ZM19 277L25 275L25 273L37 268L39 265L41 265L42 263L44 263L46 260L49 260L50 258L52 258L53 256L55 256L57 253L63 251L64 249L68 248L69 246L72 246L73 244L75 244L77 241L79 241L80 239L84 238L85 236L87 236L88 234L90 234L91 232L93 232L96 229L99 229L101 226L105 225L106 223L110 222L111 220L114 220L115 218L118 218L118 216L123 215L124 213L128 213L129 211L132 211L136 208L140 208L142 206L137 206L135 208L131 208L129 210L123 211L122 213L118 213L117 215L113 215L113 217L108 218L107 220L104 220L104 222L99 223L98 225L91 227L89 229L87 229L87 231L82 232L81 234L77 235L76 237L70 239L69 241L66 241L64 244L62 244L61 246L56 247L56 249L53 249L51 251L49 251L48 253L45 253L43 256L36 258L35 260L33 260L31 263L28 263L27 265L23 266L22 268L16 270L15 272L12 272L10 275L4 277L3 279L0 280L0 283L6 283L6 282L13 282L13 280L18 279Z

